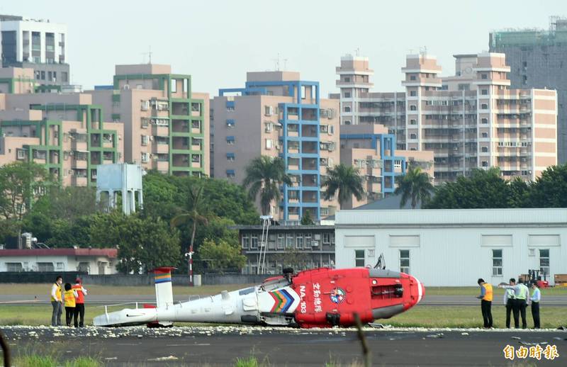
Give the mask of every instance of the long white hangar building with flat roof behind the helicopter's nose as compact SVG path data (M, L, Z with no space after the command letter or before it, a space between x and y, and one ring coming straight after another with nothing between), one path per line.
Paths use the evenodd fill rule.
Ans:
M364 205L369 206L369 205ZM426 286L497 285L541 269L567 273L567 209L340 210L336 267L386 267Z

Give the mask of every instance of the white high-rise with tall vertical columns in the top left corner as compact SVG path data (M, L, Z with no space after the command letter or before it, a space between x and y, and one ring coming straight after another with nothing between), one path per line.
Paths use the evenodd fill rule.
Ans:
M3 67L33 69L39 86L69 84L66 25L0 15L0 31Z

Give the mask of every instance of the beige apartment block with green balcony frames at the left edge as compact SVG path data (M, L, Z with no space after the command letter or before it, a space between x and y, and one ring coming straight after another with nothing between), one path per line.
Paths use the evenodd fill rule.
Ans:
M121 162L122 124L103 122L90 95L35 94L15 85L24 94L0 94L0 166L35 162L64 186L96 186L96 165Z

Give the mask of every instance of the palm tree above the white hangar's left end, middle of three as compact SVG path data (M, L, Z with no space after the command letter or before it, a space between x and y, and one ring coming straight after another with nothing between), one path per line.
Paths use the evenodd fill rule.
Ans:
M342 163L327 169L327 178L321 186L326 188L323 193L325 200L331 200L338 191L339 205L341 207L353 195L357 200L361 200L364 196L359 169Z

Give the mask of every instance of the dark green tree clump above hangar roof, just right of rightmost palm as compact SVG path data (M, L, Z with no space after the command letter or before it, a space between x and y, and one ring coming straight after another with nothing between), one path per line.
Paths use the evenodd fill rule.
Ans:
M508 208L509 182L500 177L500 169L473 169L470 177L459 176L454 182L439 186L425 208L471 209Z

